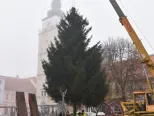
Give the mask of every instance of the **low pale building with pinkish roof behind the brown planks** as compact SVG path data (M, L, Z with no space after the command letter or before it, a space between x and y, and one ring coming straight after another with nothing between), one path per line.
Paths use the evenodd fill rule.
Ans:
M36 77L19 78L0 75L0 116L16 114L16 92L24 92L27 109L29 109L28 94L36 94Z

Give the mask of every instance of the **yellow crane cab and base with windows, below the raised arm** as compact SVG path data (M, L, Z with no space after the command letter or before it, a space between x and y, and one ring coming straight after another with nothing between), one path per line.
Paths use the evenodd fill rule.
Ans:
M121 106L124 116L132 116L132 114L154 116L154 93L145 91L133 92L133 100L121 102Z

